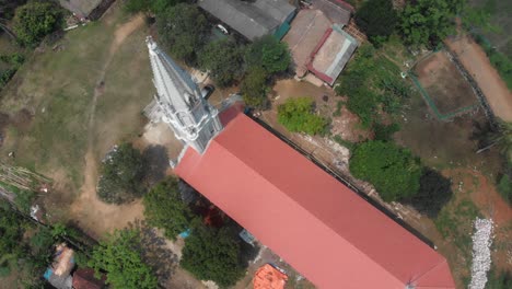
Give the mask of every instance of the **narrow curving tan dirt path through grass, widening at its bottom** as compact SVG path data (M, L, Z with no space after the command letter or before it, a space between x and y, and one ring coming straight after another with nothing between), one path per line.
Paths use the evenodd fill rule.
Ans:
M71 216L77 220L78 226L93 238L101 238L105 232L126 227L136 219L142 218L143 206L140 200L132 204L115 206L101 201L96 195L97 161L94 157L95 140L95 112L97 99L104 91L105 72L114 58L115 53L123 42L131 33L143 24L142 15L131 19L115 32L114 41L109 47L109 54L103 69L100 71L98 81L94 90L94 97L91 104L89 116L89 147L85 154L84 183L80 189L80 197L71 205Z

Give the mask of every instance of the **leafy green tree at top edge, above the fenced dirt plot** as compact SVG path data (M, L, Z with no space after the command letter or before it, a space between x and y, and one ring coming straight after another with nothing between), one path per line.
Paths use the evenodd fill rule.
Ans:
M402 13L404 41L412 46L435 46L455 32L455 15L463 0L418 0L408 2Z

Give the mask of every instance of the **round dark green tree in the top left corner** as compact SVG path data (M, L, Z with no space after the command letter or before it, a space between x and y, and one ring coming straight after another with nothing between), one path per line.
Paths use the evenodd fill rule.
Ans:
M63 25L62 11L51 2L31 1L19 7L13 21L19 42L26 46L37 45Z

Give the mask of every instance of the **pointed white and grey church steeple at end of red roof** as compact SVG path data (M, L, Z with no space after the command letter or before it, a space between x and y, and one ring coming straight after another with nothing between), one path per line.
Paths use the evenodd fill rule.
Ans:
M170 125L176 138L202 153L220 130L219 112L206 101L190 76L179 68L151 37L147 38L156 88L153 117ZM156 116L155 116L156 115Z

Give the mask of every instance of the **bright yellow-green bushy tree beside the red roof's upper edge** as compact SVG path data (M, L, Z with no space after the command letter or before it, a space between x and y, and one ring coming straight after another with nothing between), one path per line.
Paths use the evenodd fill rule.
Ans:
M325 135L328 120L314 113L315 103L311 97L288 99L278 107L278 122L292 132Z

